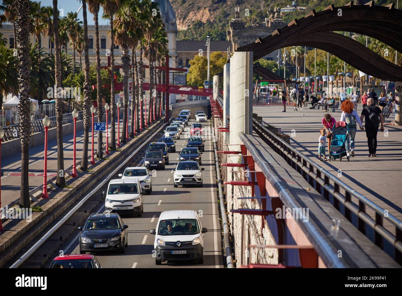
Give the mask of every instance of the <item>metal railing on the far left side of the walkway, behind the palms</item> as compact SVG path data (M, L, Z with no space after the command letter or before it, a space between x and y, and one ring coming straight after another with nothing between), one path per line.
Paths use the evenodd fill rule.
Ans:
M45 130L43 127L42 119L35 119L31 121L32 133L43 132ZM50 119L49 128L56 127L56 117L52 116L49 117L49 119ZM82 111L78 111L77 120L82 120ZM74 119L72 113L63 114L62 122L63 124L73 123ZM18 124L3 126L2 129L4 129L4 137L3 137L4 142L19 138Z

